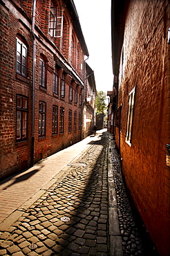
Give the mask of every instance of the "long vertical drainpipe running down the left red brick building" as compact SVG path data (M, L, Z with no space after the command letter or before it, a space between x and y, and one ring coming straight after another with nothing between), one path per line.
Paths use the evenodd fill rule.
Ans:
M34 165L35 155L35 62L36 62L36 42L35 42L35 8L36 0L33 0L32 5L32 144L31 144L31 159L30 165Z

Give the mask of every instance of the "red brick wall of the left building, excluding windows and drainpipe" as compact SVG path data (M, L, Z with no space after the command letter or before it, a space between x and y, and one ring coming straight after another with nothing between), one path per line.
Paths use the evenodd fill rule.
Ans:
M61 49L54 46L55 39L48 34L48 15L50 1L37 1L36 7L36 28L38 27L36 37L36 68L35 68L35 162L45 158L64 147L68 147L80 140L79 131L79 93L82 93L82 81L84 80L84 70L81 70L82 76L79 77L79 66L83 63L83 51L80 47L81 58L77 59L77 66L70 63L70 35L74 33L69 11L64 7L63 1L59 1L59 6L64 7L66 25L64 27L64 47ZM21 8L21 9L19 9ZM15 13L21 10L24 14L23 21L17 19ZM30 166L31 145L32 145L32 35L30 33L31 24L30 15L32 11L32 1L15 1L10 6L2 5L0 8L0 28L1 38L0 46L3 49L1 55L1 106L0 106L0 177L4 178L14 172L23 170ZM40 12L40 13L39 13ZM26 18L28 17L28 19ZM22 18L21 18L22 19ZM26 21L26 25L24 22ZM40 32L41 30L41 32ZM28 48L28 72L27 77L22 77L16 73L16 37L23 40ZM75 35L76 44L78 37ZM51 42L51 43L50 43ZM76 51L76 50L75 50ZM47 67L46 89L39 87L39 59L44 57ZM62 73L66 73L66 94L65 98L53 93L53 72L55 70L55 61L60 60L62 66L59 68L59 84ZM64 63L66 66L64 67ZM57 63L59 65L59 63ZM74 73L74 75L73 75ZM77 77L77 78L75 78ZM73 84L73 101L69 102L69 85ZM77 89L77 104L74 102L75 89ZM16 95L28 97L28 139L25 141L16 141ZM46 136L39 137L39 100L46 102ZM53 104L59 108L64 107L64 133L52 134L53 124ZM68 111L72 110L72 131L68 132ZM77 111L77 129L73 131L74 112ZM59 123L59 119L58 119Z

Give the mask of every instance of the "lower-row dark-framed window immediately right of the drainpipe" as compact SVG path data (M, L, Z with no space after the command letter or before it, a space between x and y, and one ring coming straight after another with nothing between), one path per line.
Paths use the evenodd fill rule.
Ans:
M46 132L46 102L39 102L39 136Z

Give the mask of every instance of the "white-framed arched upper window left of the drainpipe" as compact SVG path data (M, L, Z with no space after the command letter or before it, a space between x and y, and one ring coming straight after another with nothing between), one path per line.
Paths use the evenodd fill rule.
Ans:
M17 38L17 73L26 77L27 47Z

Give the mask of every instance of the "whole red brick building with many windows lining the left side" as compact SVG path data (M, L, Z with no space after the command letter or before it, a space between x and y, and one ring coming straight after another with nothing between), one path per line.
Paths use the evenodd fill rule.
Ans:
M3 0L0 177L84 138L84 56L72 0Z

